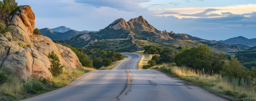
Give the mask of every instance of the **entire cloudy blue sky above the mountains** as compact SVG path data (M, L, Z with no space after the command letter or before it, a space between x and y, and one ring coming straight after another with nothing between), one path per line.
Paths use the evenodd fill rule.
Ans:
M256 0L16 0L30 5L35 27L104 29L119 18L143 16L158 30L207 40L256 38Z

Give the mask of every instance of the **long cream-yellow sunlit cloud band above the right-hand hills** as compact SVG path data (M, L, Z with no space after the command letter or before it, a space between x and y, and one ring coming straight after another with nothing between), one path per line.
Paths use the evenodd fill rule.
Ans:
M157 9L152 12L156 13L155 16L175 16L179 19L182 18L200 18L200 17L220 17L230 14L245 14L256 12L256 4L247 5L232 5L224 7L203 7L203 8L170 8L170 9ZM176 13L163 13L163 12L176 12ZM177 14L179 13L179 14Z

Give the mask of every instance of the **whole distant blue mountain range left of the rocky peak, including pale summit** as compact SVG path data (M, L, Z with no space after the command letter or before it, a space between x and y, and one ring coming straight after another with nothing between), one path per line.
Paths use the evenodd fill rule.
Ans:
M51 39L55 39L55 40L65 40L69 37L75 37L76 35L79 34L84 34L86 32L97 32L97 31L76 31L73 29L70 29L68 27L65 26L61 26L61 27L56 27L53 29L49 29L49 28L44 28L40 30L41 35L50 37Z

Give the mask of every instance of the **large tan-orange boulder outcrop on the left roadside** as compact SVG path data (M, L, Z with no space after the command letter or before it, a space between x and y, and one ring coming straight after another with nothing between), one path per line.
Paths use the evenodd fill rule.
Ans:
M0 34L0 67L8 67L20 77L51 78L48 53L54 50L60 63L69 69L82 67L76 54L70 49L43 35L34 35L35 15L29 5L18 7L9 17L11 32Z

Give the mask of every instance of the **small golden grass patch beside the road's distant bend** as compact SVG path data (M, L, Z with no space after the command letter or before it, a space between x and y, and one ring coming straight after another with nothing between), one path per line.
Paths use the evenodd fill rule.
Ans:
M152 56L154 56L152 54L146 54L143 52L144 52L144 50L135 52L135 53L141 54L141 60L138 63L137 69L142 69L142 66L147 65L148 61L152 58Z

